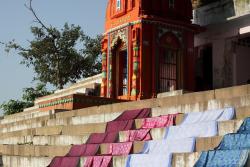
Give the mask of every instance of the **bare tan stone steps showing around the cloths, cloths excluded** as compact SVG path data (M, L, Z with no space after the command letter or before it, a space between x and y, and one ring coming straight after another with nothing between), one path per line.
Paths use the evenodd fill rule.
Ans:
M152 108L152 117L170 113L202 112L232 106L236 108L236 119L219 123L219 135L198 138L196 153L174 154L173 166L192 166L203 150L213 149L221 136L235 132L243 119L250 116L250 85L188 93L179 96L125 102L105 106L95 106L81 110L52 113L38 109L6 116L0 124L0 152L4 166L46 166L52 157L65 155L70 144L86 142L90 133L104 132L106 122L113 120L124 110ZM179 118L181 122L181 118ZM136 120L140 127L141 120ZM157 135L156 134L157 131ZM162 139L164 128L152 129L154 140ZM123 141L123 132L119 140ZM132 152L142 149L143 142L134 142ZM100 152L107 146L102 144ZM122 167L126 156L113 159L114 167ZM85 158L82 158L82 163Z

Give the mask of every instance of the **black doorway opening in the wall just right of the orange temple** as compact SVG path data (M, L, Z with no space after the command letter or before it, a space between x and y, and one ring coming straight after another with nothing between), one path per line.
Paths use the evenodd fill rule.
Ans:
M196 91L213 89L213 48L212 45L198 49L195 67Z

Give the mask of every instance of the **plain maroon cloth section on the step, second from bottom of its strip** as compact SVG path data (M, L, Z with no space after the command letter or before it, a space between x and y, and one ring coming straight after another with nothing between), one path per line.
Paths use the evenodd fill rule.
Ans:
M96 155L99 144L73 145L66 155L68 157L93 156Z

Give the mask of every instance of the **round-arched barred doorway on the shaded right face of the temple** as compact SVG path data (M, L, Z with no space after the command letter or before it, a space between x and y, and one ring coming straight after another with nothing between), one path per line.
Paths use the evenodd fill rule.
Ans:
M160 39L158 93L169 92L182 87L181 45L173 33L166 33Z

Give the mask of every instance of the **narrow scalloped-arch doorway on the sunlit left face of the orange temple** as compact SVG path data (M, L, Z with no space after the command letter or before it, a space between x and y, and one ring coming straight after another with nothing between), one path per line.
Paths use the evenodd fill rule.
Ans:
M128 55L126 44L119 38L112 49L112 55L113 96L122 98L128 94Z

